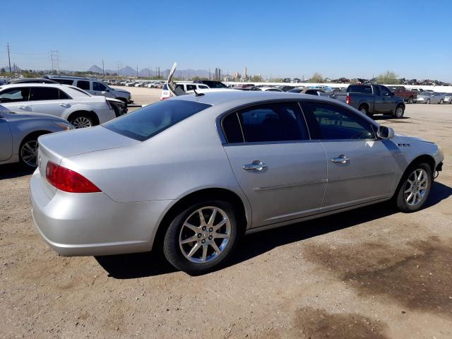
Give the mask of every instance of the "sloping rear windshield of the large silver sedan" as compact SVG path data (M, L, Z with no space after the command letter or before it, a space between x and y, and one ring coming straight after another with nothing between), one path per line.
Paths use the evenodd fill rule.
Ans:
M145 141L208 107L210 105L193 101L160 101L125 114L102 126L123 136Z

